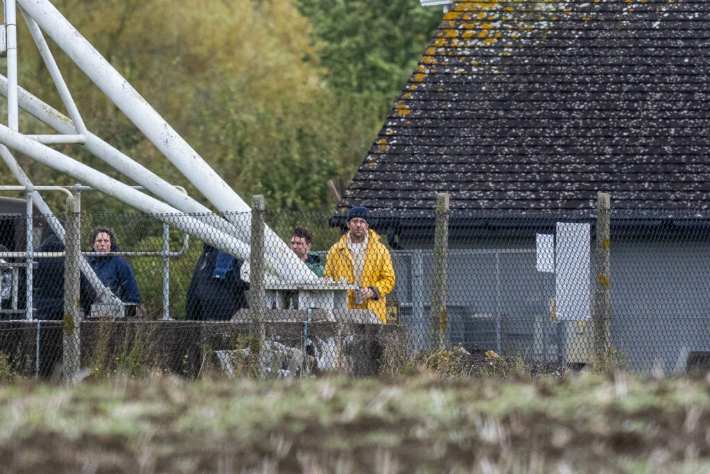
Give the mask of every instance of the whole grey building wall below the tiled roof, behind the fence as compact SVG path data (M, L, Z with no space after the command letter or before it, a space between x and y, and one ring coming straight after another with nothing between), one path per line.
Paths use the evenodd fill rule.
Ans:
M593 246L594 242L592 292ZM427 347L430 331L432 251L422 247L393 252L397 274L393 296L410 328L412 349ZM574 362L572 352L584 355L591 343L586 323L566 323L569 329L550 323L555 275L535 269L535 242L474 242L466 247L457 242L449 254L451 343L469 350L520 354L526 360ZM709 257L710 245L704 242L613 242L611 335L614 348L631 367L680 372L688 352L710 350ZM570 330L574 335L566 338Z

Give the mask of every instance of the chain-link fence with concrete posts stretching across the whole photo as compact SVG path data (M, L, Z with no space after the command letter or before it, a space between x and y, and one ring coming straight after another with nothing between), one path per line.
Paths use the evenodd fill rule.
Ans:
M0 216L0 365L281 377L454 352L470 373L710 360L710 212L251 217Z

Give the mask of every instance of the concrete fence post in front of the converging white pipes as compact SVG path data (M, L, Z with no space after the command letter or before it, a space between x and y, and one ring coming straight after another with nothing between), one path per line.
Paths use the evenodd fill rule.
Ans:
M263 377L267 368L265 351L263 350L266 339L266 326L264 325L264 301L266 289L264 288L264 226L266 225L266 205L263 195L251 198L251 254L250 283L249 283L249 311L251 312L251 348L256 352L256 373Z

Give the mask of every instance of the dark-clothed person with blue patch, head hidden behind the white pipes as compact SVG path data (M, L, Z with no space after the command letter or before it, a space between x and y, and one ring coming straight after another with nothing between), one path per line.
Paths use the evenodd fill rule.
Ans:
M185 319L229 321L246 308L249 284L239 277L241 260L204 244L185 296Z

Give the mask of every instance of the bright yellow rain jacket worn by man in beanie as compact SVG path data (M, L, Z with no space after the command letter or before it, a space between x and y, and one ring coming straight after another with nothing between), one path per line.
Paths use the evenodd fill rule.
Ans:
M361 281L353 281L353 259L347 247L347 234L340 237L340 240L330 247L328 259L325 262L325 277L335 281L345 278L349 283L372 288L375 291L374 298L369 298L360 305L355 304L355 292L348 291L348 308L369 309L383 323L386 323L385 295L395 286L395 270L392 266L390 252L380 243L380 236L372 229L367 232L368 243Z

